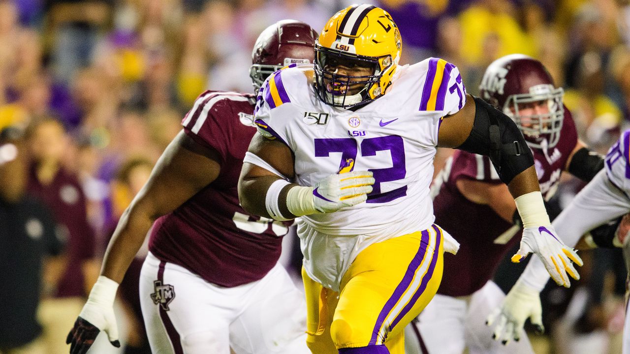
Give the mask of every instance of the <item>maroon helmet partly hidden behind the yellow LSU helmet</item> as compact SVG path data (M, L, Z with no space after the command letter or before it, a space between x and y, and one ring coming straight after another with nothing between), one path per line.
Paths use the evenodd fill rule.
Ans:
M282 20L260 33L251 52L249 77L256 89L273 72L292 63L312 63L318 33L304 22Z

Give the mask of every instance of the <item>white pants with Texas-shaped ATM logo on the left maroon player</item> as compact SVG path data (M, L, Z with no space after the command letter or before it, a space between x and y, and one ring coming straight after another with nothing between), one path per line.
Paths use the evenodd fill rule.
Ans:
M304 294L280 265L226 288L149 253L140 302L154 354L310 354Z

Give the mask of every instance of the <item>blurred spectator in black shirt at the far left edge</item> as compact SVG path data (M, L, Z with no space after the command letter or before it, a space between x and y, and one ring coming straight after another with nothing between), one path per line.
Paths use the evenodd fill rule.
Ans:
M49 211L26 193L26 150L19 130L0 131L1 354L47 353L36 316L42 294L42 265L62 247Z

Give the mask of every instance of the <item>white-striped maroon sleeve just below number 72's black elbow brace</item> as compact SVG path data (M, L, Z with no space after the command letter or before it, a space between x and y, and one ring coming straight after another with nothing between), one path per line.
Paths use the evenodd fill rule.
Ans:
M493 184L502 183L495 166L490 162L490 157L456 151L453 156L450 180L457 181L462 178Z

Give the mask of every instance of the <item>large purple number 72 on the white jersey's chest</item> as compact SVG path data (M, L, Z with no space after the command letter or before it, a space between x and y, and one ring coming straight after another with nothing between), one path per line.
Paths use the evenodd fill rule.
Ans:
M407 186L381 193L381 183L402 180L407 173L404 163L403 138L387 135L364 139L361 142L361 156L375 156L377 151L389 151L392 167L368 169L374 173L374 188L367 195L367 203L387 203L407 195ZM352 138L315 139L315 156L328 157L330 152L341 152L339 167L343 168L348 159L357 157L357 140Z

